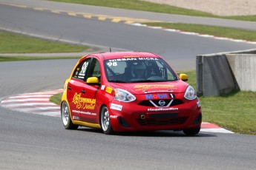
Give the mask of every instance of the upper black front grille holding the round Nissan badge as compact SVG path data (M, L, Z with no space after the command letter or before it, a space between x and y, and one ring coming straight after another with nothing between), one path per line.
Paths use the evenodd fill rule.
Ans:
M173 100L171 102L171 100ZM160 106L160 101L165 101L165 105L164 106L168 106L168 103L171 102L171 105L170 106L177 106L179 104L182 104L183 101L181 101L180 99L165 99L165 100L151 100L151 101L141 101L140 103L138 103L138 105L140 106L154 106L154 104L156 106L159 106L159 107L164 107L164 106ZM153 103L151 103L153 102Z

